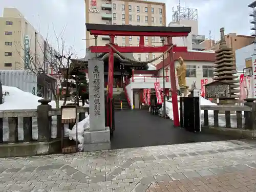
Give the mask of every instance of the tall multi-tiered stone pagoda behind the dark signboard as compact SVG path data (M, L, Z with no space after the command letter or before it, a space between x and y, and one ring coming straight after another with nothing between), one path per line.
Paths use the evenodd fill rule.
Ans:
M223 83L230 84L230 98L228 99L220 99L220 104L227 104L227 103L234 103L237 102L239 98L239 80L237 79L239 76L237 75L237 68L236 63L234 62L234 55L232 53L232 49L228 48L224 36L224 28L220 29L221 33L221 40L220 40L220 47L216 54L216 62L215 62L215 69L214 69L214 80L220 81Z

